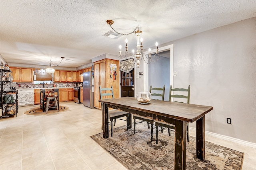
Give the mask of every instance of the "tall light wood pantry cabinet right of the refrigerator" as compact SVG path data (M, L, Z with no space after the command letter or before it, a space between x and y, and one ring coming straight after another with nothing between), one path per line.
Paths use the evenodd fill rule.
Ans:
M100 109L100 88L111 88L113 86L114 98L119 98L119 74L114 80L110 73L110 64L116 64L116 73L119 73L119 61L112 59L103 59L94 63L94 107ZM112 78L110 78L110 75Z

